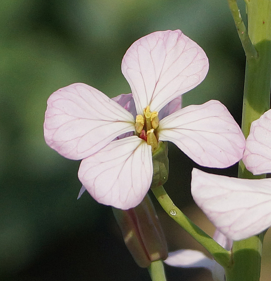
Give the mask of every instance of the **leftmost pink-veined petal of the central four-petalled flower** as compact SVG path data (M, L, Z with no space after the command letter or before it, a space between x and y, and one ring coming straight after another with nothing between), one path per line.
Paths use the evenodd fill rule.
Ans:
M86 84L61 88L47 101L44 138L66 158L88 157L115 137L132 130L131 113Z

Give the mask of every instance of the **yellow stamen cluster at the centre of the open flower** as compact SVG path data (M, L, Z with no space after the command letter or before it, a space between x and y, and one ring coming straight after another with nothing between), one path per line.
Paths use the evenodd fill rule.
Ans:
M141 139L151 145L152 151L158 145L157 128L159 126L158 112L150 111L150 106L144 108L144 115L137 115L135 119L135 132Z

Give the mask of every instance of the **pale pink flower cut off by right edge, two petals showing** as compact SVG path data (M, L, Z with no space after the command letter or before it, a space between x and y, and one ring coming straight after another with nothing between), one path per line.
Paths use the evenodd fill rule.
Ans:
M243 162L254 175L271 171L271 110L252 122ZM191 192L216 228L233 240L271 226L271 179L238 179L192 171Z

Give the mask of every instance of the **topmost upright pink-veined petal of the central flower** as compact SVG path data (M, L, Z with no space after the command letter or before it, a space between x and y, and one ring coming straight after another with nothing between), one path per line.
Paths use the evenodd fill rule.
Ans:
M137 114L147 105L151 111L160 111L201 83L208 68L205 52L180 30L153 32L138 39L121 63Z

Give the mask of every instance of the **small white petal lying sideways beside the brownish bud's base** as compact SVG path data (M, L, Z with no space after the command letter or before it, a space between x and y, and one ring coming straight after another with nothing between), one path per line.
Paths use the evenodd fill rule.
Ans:
M215 261L207 258L205 254L197 250L178 250L170 252L168 258L164 261L168 265L183 268L207 268L212 270Z

